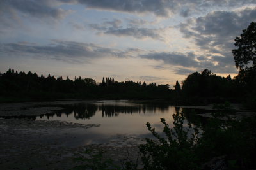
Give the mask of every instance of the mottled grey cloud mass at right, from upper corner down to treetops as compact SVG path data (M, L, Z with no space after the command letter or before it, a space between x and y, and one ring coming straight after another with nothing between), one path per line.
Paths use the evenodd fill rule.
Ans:
M198 56L201 66L211 67L218 73L234 73L232 49L234 39L250 22L256 21L256 8L237 11L213 11L204 17L189 19L180 24L185 38L195 41L207 56ZM213 65L212 65L213 64Z

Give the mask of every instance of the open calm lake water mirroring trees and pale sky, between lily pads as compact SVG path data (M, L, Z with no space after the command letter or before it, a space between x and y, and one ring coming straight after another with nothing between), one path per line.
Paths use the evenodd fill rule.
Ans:
M58 104L63 110L51 114L33 116L33 120L60 120L79 124L100 124L88 129L65 129L61 133L74 134L76 139L67 145L88 145L99 143L118 143L120 145L141 143L141 138L153 138L146 123L150 122L157 132L163 131L160 118L173 125L174 113L182 108L166 103L150 101L77 101L70 104ZM187 124L185 120L184 125ZM75 137L74 137L75 138Z

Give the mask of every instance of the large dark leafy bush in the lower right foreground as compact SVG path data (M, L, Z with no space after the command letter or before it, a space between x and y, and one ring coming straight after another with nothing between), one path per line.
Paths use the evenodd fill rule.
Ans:
M220 164L212 163L220 157L226 169L255 167L256 117L220 120L223 115L225 113L214 114L204 127L195 127L191 137L191 125L188 129L183 126L182 113L173 115L173 128L161 118L165 137L147 123L157 141L147 139L145 145L140 145L145 169L207 169Z

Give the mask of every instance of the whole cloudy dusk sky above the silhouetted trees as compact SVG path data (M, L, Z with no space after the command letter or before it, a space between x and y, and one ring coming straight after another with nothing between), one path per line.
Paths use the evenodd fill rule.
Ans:
M256 0L1 0L0 72L170 84L236 76Z

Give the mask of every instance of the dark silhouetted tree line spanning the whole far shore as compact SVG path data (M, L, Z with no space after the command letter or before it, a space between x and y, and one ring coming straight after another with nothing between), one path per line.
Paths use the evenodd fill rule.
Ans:
M92 78L63 79L48 74L14 71L0 74L0 96L2 101L44 101L54 99L166 99L174 104L207 104L223 101L241 102L255 93L254 67L240 71L235 78L221 77L205 69L201 73L189 74L170 85L147 84L135 81L115 81L102 78L96 83Z

